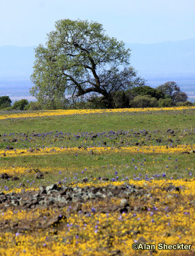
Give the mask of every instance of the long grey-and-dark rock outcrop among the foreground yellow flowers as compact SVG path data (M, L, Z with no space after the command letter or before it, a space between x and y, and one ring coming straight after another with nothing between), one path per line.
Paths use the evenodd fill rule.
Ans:
M39 173L36 173L39 174ZM4 177L7 177L4 175ZM109 198L121 198L121 205L107 205L102 212L127 212L130 211L128 199L129 196L143 196L145 191L143 188L136 186L113 186L105 187L66 187L52 184L50 186L42 186L39 191L22 189L20 193L0 193L0 207L20 207L20 209L32 209L35 207L65 207L66 205L80 205L75 207L75 211L81 211L81 205L88 200L109 200Z

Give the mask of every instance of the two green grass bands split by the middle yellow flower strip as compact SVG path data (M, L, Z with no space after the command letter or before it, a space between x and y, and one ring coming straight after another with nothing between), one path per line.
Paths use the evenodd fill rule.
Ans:
M195 144L195 110L151 111L149 113L102 113L74 116L46 116L1 120L0 149L44 147L132 147L143 145ZM134 161L132 161L134 159ZM1 157L0 168L22 166L46 173L35 180L29 172L17 173L18 181L4 180L0 186L40 186L48 182L82 182L98 177L133 179L144 175L194 177L194 154L132 154L111 152L89 154L45 154L37 156ZM82 173L84 169L88 171ZM47 173L47 169L50 172ZM51 172L52 170L52 172ZM62 172L62 174L59 174ZM76 173L76 175L75 175ZM157 177L161 175L160 177ZM29 182L27 182L29 180ZM33 185L31 182L35 181ZM21 185L20 185L21 186Z

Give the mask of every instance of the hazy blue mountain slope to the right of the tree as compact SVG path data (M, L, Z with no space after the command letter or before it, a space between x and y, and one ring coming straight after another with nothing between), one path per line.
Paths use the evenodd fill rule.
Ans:
M195 38L159 44L126 44L132 67L146 77L195 77Z

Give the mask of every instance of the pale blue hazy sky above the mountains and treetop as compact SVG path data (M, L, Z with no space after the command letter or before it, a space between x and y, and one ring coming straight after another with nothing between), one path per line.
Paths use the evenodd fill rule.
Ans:
M195 38L195 0L0 0L0 46L44 44L59 19L99 22L126 43Z

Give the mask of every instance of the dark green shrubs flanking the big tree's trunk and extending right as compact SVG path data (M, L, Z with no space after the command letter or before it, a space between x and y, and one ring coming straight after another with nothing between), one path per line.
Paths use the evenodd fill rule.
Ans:
M174 83L174 82L168 82ZM171 89L172 84L166 84L169 89ZM163 86L158 88L152 88L150 86L139 86L127 90L123 90L113 93L113 103L114 108L165 108L172 106L193 106L192 102L187 100L186 93L180 92L180 88L176 86L176 91L174 90L175 84L172 86L173 92L169 92L164 89ZM91 97L88 100L81 100L74 104L74 108L107 108L107 100L104 97Z

